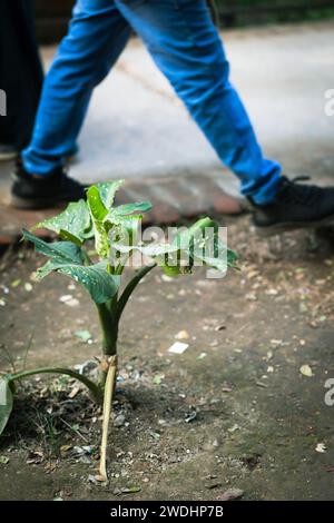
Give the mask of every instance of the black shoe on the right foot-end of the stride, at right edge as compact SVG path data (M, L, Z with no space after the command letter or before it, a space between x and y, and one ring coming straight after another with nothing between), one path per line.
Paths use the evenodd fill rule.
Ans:
M297 184L305 179L282 177L277 196L269 205L259 206L248 198L253 223L261 236L334 224L334 187Z

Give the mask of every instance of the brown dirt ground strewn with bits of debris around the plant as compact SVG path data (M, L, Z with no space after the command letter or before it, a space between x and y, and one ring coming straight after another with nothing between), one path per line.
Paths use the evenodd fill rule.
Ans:
M100 412L73 382L43 377L18 391L1 438L1 500L334 499L333 234L259 240L247 216L227 224L240 273L169 280L157 269L129 304L109 485L94 480ZM85 290L58 275L31 282L39 265L26 249L2 258L2 372L9 355L18 368L99 355ZM183 355L168 353L177 335Z

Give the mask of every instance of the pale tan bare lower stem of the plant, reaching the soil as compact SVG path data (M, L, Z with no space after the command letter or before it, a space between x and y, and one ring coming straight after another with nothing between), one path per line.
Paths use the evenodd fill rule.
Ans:
M102 442L101 442L101 457L100 457L100 475L104 481L108 481L107 474L107 444L108 444L108 431L109 421L112 405L112 395L115 388L117 372L117 356L109 358L109 368L106 379L105 398L104 398L104 424L102 424Z

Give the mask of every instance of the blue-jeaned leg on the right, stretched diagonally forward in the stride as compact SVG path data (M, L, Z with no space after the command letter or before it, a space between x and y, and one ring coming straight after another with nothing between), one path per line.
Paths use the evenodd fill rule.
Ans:
M222 161L256 203L274 199L281 166L264 158L205 0L116 0Z

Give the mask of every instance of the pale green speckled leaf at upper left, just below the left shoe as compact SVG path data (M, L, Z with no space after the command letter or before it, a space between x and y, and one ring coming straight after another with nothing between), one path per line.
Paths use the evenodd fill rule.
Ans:
M86 201L69 204L63 213L37 224L31 230L45 228L53 230L62 239L81 245L90 236L91 220Z

